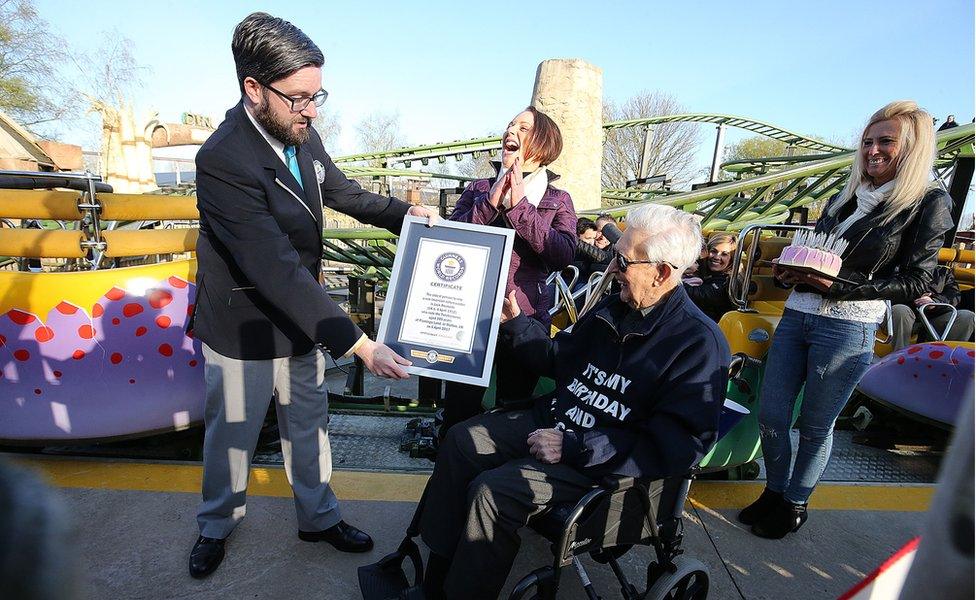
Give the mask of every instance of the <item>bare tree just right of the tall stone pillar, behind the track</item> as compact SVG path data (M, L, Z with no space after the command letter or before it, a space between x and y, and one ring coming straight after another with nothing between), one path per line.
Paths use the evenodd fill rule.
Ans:
M604 103L603 120L621 121L669 114L680 114L685 108L668 94L644 91L623 104ZM605 188L622 188L640 173L644 150L644 127L627 127L606 132L603 143ZM695 150L700 132L694 123L661 123L653 126L648 145L648 170L645 175L667 175L674 185L691 181L695 175Z

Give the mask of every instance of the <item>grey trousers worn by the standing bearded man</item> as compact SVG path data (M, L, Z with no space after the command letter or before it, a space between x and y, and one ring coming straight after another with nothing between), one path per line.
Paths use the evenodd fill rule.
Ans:
M268 403L277 392L285 474L295 495L298 528L319 531L340 520L329 487L328 388L325 356L238 360L203 344L207 399L203 442L203 502L200 535L225 538L244 518L247 480Z

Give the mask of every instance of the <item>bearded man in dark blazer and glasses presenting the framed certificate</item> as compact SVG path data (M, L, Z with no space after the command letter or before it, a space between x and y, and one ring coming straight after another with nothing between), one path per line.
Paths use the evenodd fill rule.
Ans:
M320 283L323 206L398 232L436 214L366 192L332 163L312 128L325 101L321 51L291 23L254 13L231 49L241 102L197 154L197 300L190 328L206 360L200 537L190 574L205 577L244 517L250 462L276 398L298 536L345 552L373 541L342 520L329 487L325 355L355 354L372 373L406 378L409 361L370 340Z

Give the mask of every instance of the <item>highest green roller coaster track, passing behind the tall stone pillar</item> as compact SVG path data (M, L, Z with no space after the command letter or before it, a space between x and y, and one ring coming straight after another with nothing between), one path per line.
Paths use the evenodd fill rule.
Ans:
M769 123L737 117L734 115L719 115L708 113L687 113L680 115L661 115L657 117L644 117L640 119L629 119L626 121L611 121L603 124L604 131L614 129L624 129L627 127L647 127L661 123L711 123L714 125L726 125L737 127L752 133L771 137L785 144L820 152L846 152L850 148L835 146L821 140L794 133L786 129L781 129ZM420 161L427 165L430 160L437 160L444 163L448 158L461 160L465 156L479 156L485 152L494 152L501 147L501 138L484 137L470 140L459 140L433 144L429 146L411 146L405 148L395 148L382 152L366 152L363 154L351 154L339 156L333 159L336 164L357 163L357 162L380 162L386 166L393 164L403 164L409 167L414 161Z

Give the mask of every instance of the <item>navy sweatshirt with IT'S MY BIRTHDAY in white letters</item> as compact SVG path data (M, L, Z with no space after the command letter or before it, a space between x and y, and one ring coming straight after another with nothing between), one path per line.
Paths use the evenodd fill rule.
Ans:
M527 369L556 382L535 410L564 430L561 462L597 478L686 473L715 442L728 344L682 286L621 335L631 313L614 295L554 339L524 315L501 335Z

